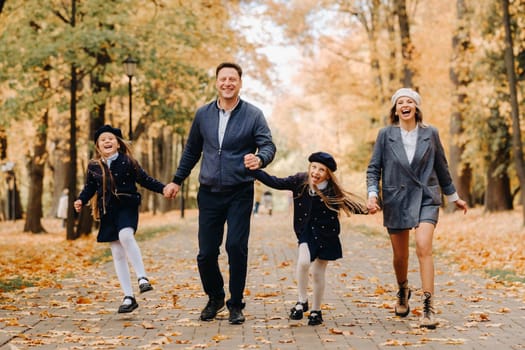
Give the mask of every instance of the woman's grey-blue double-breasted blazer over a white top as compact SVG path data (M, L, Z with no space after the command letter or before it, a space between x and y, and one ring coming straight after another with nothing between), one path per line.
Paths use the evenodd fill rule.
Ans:
M400 127L391 125L381 129L366 175L368 192L382 196L383 224L391 229L417 227L424 206L437 207L437 222L441 192L445 195L456 192L438 130L432 126L419 126L411 163Z

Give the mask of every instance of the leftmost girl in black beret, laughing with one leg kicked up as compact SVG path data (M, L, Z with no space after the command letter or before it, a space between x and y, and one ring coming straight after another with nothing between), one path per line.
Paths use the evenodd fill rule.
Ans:
M140 167L118 128L104 125L98 129L95 132L95 151L95 157L88 164L86 183L74 207L79 212L91 201L93 215L100 219L97 241L110 243L115 270L124 292L118 312L127 313L138 307L128 260L135 270L140 292L153 289L135 240L141 202L136 183L157 193L162 193L164 184Z

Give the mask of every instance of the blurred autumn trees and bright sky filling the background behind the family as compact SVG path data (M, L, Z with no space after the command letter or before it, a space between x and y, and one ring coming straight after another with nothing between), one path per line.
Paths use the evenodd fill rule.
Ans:
M130 141L162 181L196 108L215 96L214 68L232 60L245 70L243 97L267 114L273 173L301 171L322 149L364 194L390 96L410 86L461 196L488 211L523 202L525 0L7 0L0 11L0 216L23 217L26 231L45 231L65 188L78 193L98 127L128 135L128 56L139 62ZM179 206L144 192L143 210ZM89 213L78 219L68 238L90 231Z

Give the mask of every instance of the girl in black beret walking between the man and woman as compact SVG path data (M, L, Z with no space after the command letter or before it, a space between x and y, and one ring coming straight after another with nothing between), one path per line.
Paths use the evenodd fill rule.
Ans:
M323 323L321 299L325 289L328 261L342 258L339 240L339 211L366 214L366 206L355 195L341 188L334 172L337 164L325 152L316 152L308 158L308 172L278 178L263 170L254 171L254 177L278 190L291 190L294 203L294 231L299 244L297 258L298 301L290 310L290 318L300 320L308 310L308 273L313 277L313 303L308 316L311 326Z

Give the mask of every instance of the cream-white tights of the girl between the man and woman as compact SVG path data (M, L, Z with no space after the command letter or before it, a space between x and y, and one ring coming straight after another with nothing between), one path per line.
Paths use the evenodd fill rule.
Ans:
M299 244L299 252L297 257L297 289L299 300L301 303L308 300L308 274L310 266L312 268L312 284L313 284L313 300L312 310L321 310L321 301L325 289L325 275L328 260L315 259L310 262L310 250L308 243Z

